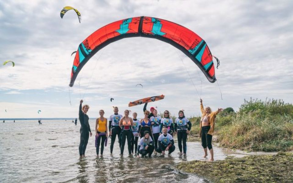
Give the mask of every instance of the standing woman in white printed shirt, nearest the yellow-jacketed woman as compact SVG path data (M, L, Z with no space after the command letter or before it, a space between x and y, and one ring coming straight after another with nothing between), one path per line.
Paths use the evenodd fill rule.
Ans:
M183 142L183 154L186 156L186 138L187 134L189 134L189 131L191 129L191 123L190 121L184 116L183 110L179 110L178 113L179 117L175 120L175 133L177 133L177 139L178 139L178 147L180 151L180 155L182 155L182 142Z

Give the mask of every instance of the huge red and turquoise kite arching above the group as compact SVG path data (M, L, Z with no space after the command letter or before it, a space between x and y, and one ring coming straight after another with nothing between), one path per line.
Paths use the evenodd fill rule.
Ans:
M216 81L212 54L201 37L179 24L140 16L110 23L82 41L75 54L69 86L73 86L81 68L96 52L111 42L129 37L156 38L175 46L202 70L208 81Z

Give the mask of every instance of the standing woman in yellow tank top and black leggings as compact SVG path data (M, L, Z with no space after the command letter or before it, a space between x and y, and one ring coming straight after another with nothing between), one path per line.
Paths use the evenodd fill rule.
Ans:
M104 110L99 111L100 117L96 119L96 152L99 155L101 145L101 156L104 151L104 144L108 137L107 118L104 118ZM101 142L102 139L102 142ZM106 144L107 145L107 144Z

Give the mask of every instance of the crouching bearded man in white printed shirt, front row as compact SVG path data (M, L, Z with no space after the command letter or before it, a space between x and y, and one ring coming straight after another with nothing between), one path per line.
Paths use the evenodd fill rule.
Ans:
M168 128L163 127L163 134L161 134L158 138L158 153L162 153L165 155L165 151L169 151L168 156L175 150L174 140L172 135L167 133Z

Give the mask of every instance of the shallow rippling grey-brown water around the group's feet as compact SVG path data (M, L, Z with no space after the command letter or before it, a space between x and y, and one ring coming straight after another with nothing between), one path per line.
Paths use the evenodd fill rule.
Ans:
M94 135L85 158L79 159L79 129L72 120L5 121L0 124L0 182L207 182L174 169L175 163L202 160L199 142L187 142L187 157L179 156L175 139L172 157L128 156L127 143L121 157L118 140L110 156L110 139L103 157L96 156ZM93 131L95 120L90 120ZM214 147L215 160L226 154Z

